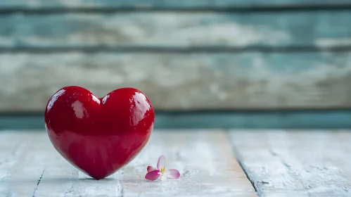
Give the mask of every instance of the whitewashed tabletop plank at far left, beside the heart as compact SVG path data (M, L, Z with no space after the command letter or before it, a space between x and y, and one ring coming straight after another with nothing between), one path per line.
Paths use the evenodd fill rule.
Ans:
M5 166L1 166L3 163L0 165L1 171L6 174L0 180L0 196L36 196L46 166L58 155L53 151L47 152L50 142L46 133L1 131L0 139L1 146L4 146L0 154L10 153L5 158Z

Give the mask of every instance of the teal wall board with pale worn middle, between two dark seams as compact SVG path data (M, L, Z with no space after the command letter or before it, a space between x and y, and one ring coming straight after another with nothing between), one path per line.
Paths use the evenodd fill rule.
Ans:
M351 46L350 18L350 11L13 14L0 16L0 47Z

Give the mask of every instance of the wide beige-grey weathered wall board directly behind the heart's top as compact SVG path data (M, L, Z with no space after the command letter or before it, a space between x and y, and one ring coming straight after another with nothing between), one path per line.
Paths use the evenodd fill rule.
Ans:
M158 110L351 108L351 53L3 53L0 111L79 85L136 87Z

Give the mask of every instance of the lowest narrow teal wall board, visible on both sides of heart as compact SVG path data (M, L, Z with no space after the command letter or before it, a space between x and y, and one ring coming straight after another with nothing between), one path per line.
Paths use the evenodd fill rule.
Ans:
M155 129L347 129L350 110L158 112ZM44 129L43 115L0 115L1 129Z

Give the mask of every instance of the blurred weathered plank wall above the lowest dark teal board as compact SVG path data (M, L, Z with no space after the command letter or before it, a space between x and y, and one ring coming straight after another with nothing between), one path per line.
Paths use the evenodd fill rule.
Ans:
M0 1L0 113L68 85L157 110L350 109L351 1Z

